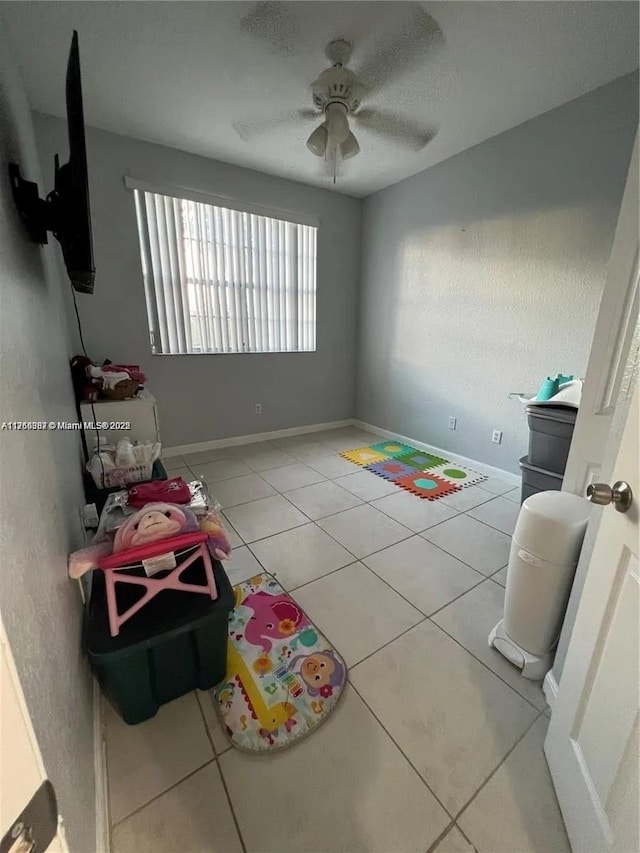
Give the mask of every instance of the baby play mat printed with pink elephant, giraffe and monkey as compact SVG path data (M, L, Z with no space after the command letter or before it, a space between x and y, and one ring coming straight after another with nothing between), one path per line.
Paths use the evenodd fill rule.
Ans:
M238 584L234 593L227 674L214 704L233 746L285 749L330 716L347 667L271 575Z

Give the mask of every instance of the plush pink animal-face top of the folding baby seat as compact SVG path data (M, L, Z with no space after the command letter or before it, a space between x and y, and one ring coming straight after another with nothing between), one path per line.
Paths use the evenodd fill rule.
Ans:
M229 559L231 545L218 513L211 510L198 524L198 519L186 506L150 503L129 516L122 527L118 528L113 545L111 542L101 542L74 551L69 557L69 575L72 578L81 577L85 572L97 568L98 561L112 553L119 554L151 542L198 530L208 534L207 547L213 557L217 560Z

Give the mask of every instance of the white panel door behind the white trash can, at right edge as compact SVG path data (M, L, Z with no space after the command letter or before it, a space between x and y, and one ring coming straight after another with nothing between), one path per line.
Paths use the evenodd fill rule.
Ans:
M638 317L638 198L636 137L562 485L576 495L599 479Z

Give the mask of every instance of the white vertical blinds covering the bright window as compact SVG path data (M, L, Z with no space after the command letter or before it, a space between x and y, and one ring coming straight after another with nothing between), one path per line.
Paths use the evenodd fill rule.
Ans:
M315 350L316 227L134 193L154 353Z

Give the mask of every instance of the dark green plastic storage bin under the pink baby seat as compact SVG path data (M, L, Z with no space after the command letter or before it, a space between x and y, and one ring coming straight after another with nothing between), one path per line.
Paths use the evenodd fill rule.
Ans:
M182 579L198 583L199 563L190 566ZM165 702L196 688L208 690L224 679L228 620L235 599L219 562L213 561L213 571L215 601L198 593L163 590L122 626L117 637L109 633L104 576L94 572L84 648L102 692L125 723L148 720ZM190 572L192 577L187 577Z

